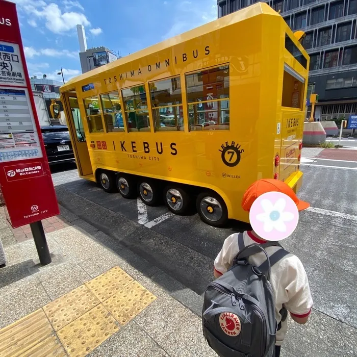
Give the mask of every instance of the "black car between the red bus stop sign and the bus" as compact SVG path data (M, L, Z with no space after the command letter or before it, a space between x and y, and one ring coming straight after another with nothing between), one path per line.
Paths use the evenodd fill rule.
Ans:
M50 165L75 160L66 125L41 126L41 133Z

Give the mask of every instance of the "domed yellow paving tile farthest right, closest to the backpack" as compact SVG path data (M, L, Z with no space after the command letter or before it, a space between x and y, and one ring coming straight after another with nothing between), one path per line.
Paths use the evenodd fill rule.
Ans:
M155 299L155 295L152 295L138 282L133 282L104 301L103 304L121 325L125 325Z

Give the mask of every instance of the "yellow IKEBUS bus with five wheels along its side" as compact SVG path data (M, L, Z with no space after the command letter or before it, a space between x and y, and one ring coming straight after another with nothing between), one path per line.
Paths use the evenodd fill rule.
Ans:
M309 56L258 3L68 81L61 88L79 174L206 223L248 221L257 179L295 191Z

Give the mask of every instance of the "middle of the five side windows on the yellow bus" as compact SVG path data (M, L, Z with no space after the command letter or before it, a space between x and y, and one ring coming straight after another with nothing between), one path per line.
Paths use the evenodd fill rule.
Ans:
M129 132L149 132L150 120L147 109L145 86L126 88L121 91Z

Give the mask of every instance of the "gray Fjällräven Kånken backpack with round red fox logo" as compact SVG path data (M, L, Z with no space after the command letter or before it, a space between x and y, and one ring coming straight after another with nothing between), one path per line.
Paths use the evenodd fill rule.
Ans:
M270 268L289 252L281 247L269 258L264 248L273 245L281 247L277 242L245 247L240 233L239 253L232 267L205 292L203 335L220 357L274 356L279 326L269 283ZM266 261L259 267L249 264L247 258L260 251L265 253ZM286 318L287 311L281 311L281 314Z

